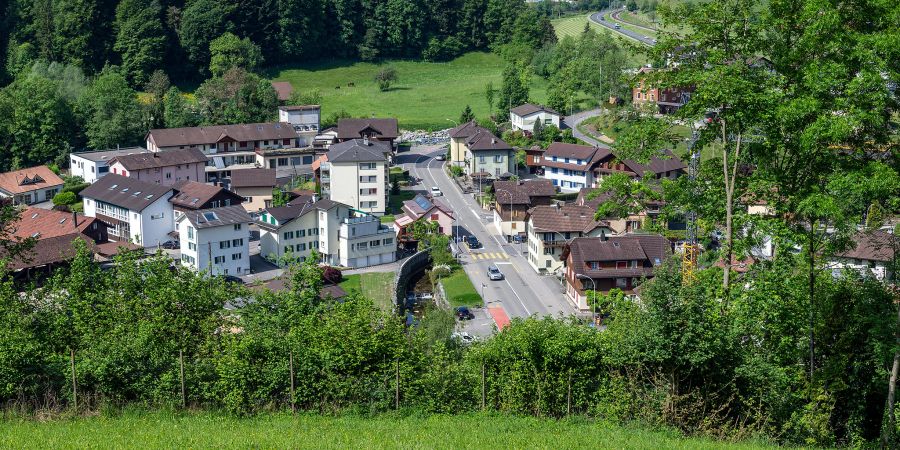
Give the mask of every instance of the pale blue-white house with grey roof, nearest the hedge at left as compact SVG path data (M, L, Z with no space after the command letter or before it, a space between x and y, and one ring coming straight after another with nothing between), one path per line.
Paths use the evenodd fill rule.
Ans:
M211 275L250 273L250 224L240 205L186 211L178 216L181 265Z

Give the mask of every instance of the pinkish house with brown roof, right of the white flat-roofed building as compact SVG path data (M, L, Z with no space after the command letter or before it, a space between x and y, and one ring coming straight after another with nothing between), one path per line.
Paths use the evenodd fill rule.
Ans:
M171 186L181 180L206 180L206 155L196 148L132 153L109 160L110 172L148 183Z

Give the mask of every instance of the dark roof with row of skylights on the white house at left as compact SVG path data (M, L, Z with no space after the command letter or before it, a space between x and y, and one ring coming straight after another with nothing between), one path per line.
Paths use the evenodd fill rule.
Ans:
M143 211L171 191L168 186L111 173L84 188L80 195L130 211Z

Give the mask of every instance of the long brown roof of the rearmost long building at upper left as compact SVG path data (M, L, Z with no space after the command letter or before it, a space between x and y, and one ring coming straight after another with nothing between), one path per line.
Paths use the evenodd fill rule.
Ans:
M209 127L159 128L150 130L147 138L158 147L212 144L225 138L238 142L271 139L296 139L297 132L287 122L214 125Z

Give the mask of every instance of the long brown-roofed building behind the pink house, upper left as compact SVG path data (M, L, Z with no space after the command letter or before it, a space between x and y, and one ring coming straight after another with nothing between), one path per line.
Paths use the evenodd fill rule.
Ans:
M206 179L219 181L232 170L261 167L257 150L299 147L299 137L287 122L163 128L147 133L151 152L196 148L206 155Z

